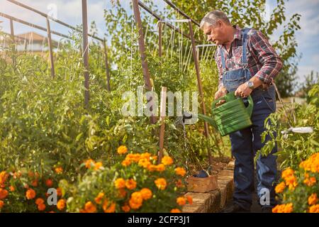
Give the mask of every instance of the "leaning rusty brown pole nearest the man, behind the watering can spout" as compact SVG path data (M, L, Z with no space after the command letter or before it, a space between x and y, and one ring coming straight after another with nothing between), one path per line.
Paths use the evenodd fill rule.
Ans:
M201 107L202 107L203 114L206 115L206 106L205 106L205 101L203 98L203 87L201 85L201 74L199 71L198 58L196 56L196 47L195 47L194 33L193 33L193 28L191 26L191 21L189 21L189 35L191 35L191 48L192 48L193 57L194 57L194 64L195 64L197 84L198 84L198 92L201 96ZM206 121L204 121L204 132L205 132L206 138L208 138L209 131L208 131L208 123ZM208 148L208 161L209 161L209 165L213 165L213 158L211 157L211 150L209 148Z

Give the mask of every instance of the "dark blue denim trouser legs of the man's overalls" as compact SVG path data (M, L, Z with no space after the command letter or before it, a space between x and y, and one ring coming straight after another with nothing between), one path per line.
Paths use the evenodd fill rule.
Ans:
M244 209L250 209L252 205L252 192L254 190L254 155L260 150L264 143L261 134L264 132L264 120L276 110L276 96L274 86L268 91L261 90L252 93L254 109L252 111L252 126L230 134L232 153L235 157L234 182L235 192L233 201ZM266 141L269 140L266 137ZM257 195L260 198L268 191L268 203L264 206L272 207L276 204L274 182L276 181L276 153L277 148L267 157L259 157L257 160Z

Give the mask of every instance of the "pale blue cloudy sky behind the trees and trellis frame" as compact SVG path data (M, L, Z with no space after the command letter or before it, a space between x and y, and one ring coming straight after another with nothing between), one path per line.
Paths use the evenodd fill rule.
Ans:
M64 21L73 26L82 23L82 1L81 0L18 0L23 4L32 6L39 11L49 13L53 17ZM162 0L154 0L155 5L164 7L165 3ZM96 22L99 31L99 36L103 37L106 32L106 26L103 20L103 10L111 8L111 0L88 0L88 21ZM121 0L123 6L128 7L130 0ZM276 5L276 0L267 0L267 11L272 12ZM128 8L129 9L129 8ZM28 11L16 6L9 1L0 0L0 12L7 13L11 16L21 18L25 21L35 23L39 26L46 26L45 18L39 16L37 13ZM298 82L304 80L305 75L310 74L311 70L319 72L319 0L289 0L286 1L286 18L290 18L294 13L301 14L301 30L296 33L296 40L298 43L297 54L301 55L301 60L298 63L297 77ZM269 14L269 13L268 13ZM266 13L267 16L267 13ZM10 33L9 21L6 18L0 17L2 31ZM58 23L51 22L51 29L68 34L67 28ZM36 28L14 23L14 30L16 34L35 31L36 33L46 35L43 31L38 31ZM276 40L279 31L272 35L271 40ZM52 35L52 38L58 40L59 38Z

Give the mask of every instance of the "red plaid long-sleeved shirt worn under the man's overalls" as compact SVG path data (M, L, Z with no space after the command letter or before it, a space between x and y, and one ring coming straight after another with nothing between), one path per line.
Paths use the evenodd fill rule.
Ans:
M237 70L241 68L242 62L242 33L241 28L234 26L236 32L233 43L230 45L228 54L223 45L219 45L215 52L215 60L219 72L219 86L223 85L223 67L220 57L220 48L224 50L226 70ZM247 33L247 62L248 69L252 77L258 77L264 84L271 84L274 77L279 74L282 62L281 58L276 54L272 45L267 38L255 29L250 29Z

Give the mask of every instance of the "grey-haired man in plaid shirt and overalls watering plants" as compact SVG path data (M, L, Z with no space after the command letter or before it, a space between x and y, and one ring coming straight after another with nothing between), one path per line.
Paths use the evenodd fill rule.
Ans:
M235 91L244 102L251 95L254 101L252 126L230 134L231 150L235 157L235 192L233 204L225 212L250 211L254 190L254 155L264 143L261 134L264 121L276 110L276 94L272 81L282 67L267 38L253 28L232 26L222 11L211 11L201 21L201 30L208 41L216 43L215 59L219 72L215 99ZM266 138L266 141L269 138ZM276 204L276 148L257 160L257 195L263 212L271 212Z

